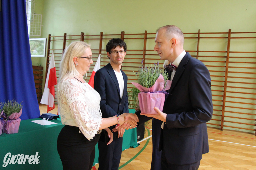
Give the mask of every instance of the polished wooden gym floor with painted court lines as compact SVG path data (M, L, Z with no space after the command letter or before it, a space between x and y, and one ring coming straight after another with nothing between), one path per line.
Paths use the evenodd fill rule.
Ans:
M39 104L40 113L47 113L47 106ZM57 114L58 105L51 113ZM122 152L119 169L150 169L152 156L151 122L147 126L144 140L137 148ZM256 136L234 130L223 131L208 127L210 152L204 154L199 170L256 170ZM98 164L92 167L98 169ZM160 168L159 168L160 170Z

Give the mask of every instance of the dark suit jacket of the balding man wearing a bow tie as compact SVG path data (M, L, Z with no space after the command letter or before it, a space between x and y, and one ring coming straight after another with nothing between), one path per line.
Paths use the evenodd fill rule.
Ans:
M166 69L170 74L170 70ZM206 66L188 52L167 91L159 150L170 164L190 164L209 152L206 122L212 117L211 78ZM137 113L138 115L138 113ZM139 120L145 120L139 115Z

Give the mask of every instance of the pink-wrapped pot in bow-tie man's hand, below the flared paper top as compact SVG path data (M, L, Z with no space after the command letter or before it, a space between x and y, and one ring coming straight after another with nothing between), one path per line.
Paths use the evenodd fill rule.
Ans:
M140 92L138 94L141 113L157 114L154 107L162 112L165 101L165 94L161 92Z

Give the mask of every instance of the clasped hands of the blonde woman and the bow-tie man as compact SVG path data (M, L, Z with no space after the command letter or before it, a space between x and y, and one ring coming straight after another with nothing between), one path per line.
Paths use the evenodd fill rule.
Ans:
M132 129L137 127L137 122L139 122L138 116L132 113L123 113L119 116L119 124L123 129ZM116 129L119 126L116 126Z

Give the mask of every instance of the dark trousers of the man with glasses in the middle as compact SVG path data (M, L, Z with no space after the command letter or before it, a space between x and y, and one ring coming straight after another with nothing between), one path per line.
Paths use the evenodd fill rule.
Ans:
M103 139L104 140L103 140ZM113 142L105 143L104 134L98 142L99 170L118 170L122 154L123 137L118 138L118 132L113 132Z

